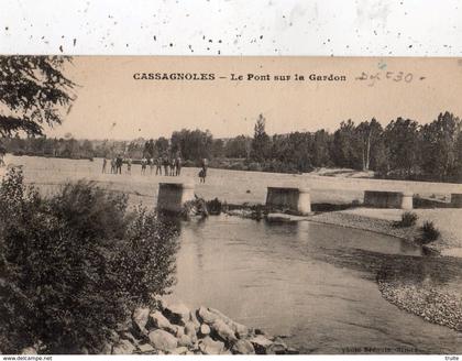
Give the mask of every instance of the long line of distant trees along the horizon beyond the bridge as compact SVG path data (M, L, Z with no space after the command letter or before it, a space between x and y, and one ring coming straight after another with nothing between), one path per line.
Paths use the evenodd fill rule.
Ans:
M270 136L265 119L256 120L254 135L213 139L209 131L180 130L170 139L77 141L19 136L2 140L8 152L70 158L139 160L180 155L184 164L209 158L211 167L279 173L306 173L318 167L374 171L396 179L462 182L462 122L450 112L425 125L404 118L382 127L375 119L342 121L334 132L293 132Z

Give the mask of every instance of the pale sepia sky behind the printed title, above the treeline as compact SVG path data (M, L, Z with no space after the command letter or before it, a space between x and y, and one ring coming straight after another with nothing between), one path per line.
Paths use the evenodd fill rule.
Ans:
M135 80L140 73L216 79ZM251 135L260 113L270 134L332 131L348 119L426 123L446 110L462 116L460 58L82 56L65 74L78 85L77 99L62 125L45 130L48 136L150 139L183 128L208 129L215 138ZM244 80L231 80L231 74ZM246 80L248 74L271 80ZM295 80L296 74L305 80ZM346 80L315 81L311 74ZM274 80L279 75L290 79Z

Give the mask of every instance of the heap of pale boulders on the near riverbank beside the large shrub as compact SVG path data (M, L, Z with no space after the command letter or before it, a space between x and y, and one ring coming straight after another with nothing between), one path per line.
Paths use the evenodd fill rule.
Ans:
M127 329L101 353L111 354L290 354L278 337L233 321L213 308L190 310L182 303L136 308Z

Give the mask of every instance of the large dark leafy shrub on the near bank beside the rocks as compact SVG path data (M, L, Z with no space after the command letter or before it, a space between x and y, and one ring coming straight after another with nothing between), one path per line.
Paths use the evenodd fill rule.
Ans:
M0 342L19 353L98 352L131 308L174 282L175 230L123 195L65 185L42 198L10 171L0 186Z

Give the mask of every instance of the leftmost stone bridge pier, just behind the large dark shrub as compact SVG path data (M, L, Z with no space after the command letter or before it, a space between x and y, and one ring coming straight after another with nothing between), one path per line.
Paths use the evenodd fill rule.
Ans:
M185 203L195 199L193 183L160 183L157 209L179 214Z

